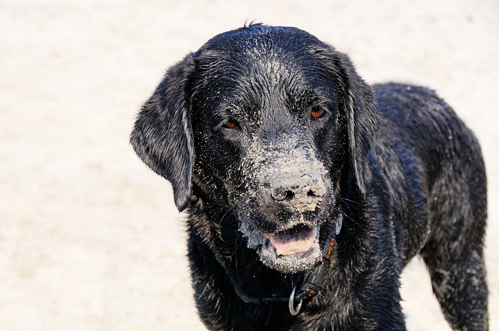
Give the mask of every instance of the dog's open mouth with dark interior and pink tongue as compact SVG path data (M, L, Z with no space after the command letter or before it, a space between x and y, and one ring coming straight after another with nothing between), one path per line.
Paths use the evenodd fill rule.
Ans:
M290 229L277 232L273 235L264 234L270 241L277 256L305 253L318 242L319 227L313 228L299 224Z

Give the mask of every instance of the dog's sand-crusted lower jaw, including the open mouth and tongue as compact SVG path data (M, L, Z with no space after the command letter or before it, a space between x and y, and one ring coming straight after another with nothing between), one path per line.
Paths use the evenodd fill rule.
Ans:
M240 231L248 238L248 247L258 253L261 262L282 273L312 269L321 259L319 226L297 224L289 229L267 234L243 221Z

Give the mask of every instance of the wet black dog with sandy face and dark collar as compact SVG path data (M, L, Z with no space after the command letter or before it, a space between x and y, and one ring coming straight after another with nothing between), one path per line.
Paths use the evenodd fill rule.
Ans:
M131 143L187 208L208 329L405 330L417 254L452 328L488 329L484 163L433 91L370 87L307 32L251 24L171 67Z

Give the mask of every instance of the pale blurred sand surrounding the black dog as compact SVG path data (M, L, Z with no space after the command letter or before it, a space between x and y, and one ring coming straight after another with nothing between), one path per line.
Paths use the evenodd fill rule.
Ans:
M331 42L369 82L432 87L477 134L499 330L498 17L497 0L0 0L0 330L204 330L171 186L128 135L169 65L247 19ZM450 330L420 261L402 283L408 330Z

